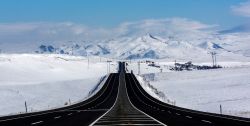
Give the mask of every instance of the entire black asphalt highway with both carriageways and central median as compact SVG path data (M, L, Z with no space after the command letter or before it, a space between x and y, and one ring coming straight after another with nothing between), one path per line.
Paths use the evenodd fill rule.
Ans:
M0 117L0 126L250 126L250 119L172 106L149 95L133 73L110 74L86 101L54 110Z

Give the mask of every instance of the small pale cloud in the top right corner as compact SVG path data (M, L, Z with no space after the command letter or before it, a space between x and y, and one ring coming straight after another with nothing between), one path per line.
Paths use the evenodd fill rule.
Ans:
M231 7L233 13L243 16L250 17L250 1L240 3Z

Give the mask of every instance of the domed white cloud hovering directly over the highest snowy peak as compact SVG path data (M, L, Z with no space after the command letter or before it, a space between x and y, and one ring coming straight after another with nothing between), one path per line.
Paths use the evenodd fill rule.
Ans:
M181 39L189 39L207 36L217 25L207 25L186 18L148 19L137 22L122 23L116 33L120 36L140 36L146 33L159 36L175 36Z

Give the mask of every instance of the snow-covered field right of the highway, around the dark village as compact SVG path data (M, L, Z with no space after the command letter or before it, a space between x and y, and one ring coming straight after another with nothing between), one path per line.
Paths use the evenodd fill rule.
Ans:
M179 72L168 70L173 62L158 64L162 73L141 63L141 74L177 106L220 113L221 105L223 114L250 118L250 62L220 62L225 68ZM138 64L129 64L129 69L138 73Z

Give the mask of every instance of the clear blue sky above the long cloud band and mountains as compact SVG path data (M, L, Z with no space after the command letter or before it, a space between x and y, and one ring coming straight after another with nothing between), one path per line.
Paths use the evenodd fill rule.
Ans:
M247 23L232 6L246 0L2 0L0 23L65 22L113 27L122 22L183 17L229 28Z

